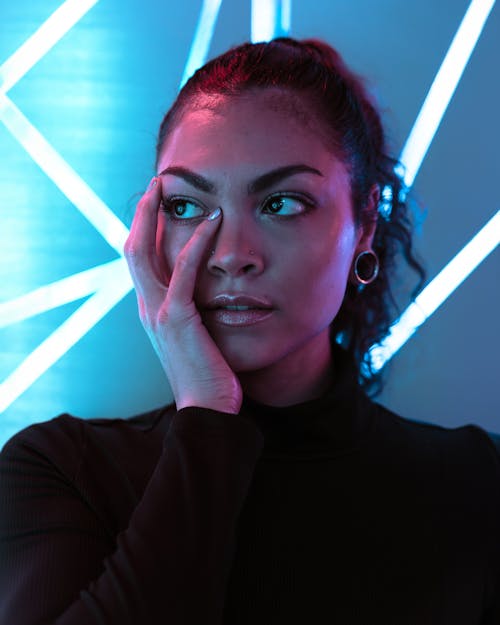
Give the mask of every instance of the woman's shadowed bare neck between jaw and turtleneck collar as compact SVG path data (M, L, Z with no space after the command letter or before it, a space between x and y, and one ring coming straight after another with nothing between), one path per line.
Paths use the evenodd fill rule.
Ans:
M245 395L268 406L291 406L321 397L333 378L329 341L312 341L269 367L240 372Z

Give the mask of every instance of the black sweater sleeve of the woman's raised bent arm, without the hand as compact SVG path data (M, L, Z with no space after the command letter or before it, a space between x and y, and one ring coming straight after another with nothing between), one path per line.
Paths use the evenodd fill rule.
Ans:
M0 456L0 623L220 623L261 446L255 425L238 415L179 411L113 544L45 450L15 437Z

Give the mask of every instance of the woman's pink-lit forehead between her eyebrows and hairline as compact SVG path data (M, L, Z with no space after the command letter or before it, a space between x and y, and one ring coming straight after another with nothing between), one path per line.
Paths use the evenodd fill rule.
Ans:
M182 112L159 166L181 158L244 161L335 157L315 107L300 94L260 89L238 96L201 95ZM264 163L262 163L264 164Z

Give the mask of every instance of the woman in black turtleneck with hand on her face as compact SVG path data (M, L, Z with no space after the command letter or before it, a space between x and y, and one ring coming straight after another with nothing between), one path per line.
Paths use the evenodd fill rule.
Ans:
M186 84L126 244L175 404L6 445L2 623L500 623L490 439L363 390L420 270L394 164L322 42Z

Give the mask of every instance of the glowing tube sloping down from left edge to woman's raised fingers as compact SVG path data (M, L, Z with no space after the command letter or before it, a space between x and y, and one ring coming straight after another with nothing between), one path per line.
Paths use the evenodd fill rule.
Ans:
M6 95L0 119L39 167L121 256L128 230Z

